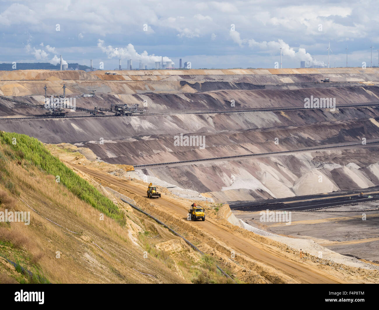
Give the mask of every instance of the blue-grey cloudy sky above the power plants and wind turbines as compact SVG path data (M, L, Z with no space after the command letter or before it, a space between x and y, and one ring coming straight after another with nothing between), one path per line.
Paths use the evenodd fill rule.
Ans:
M327 64L330 41L330 67L346 66L346 47L349 66L370 66L371 42L377 66L378 26L374 0L0 0L0 63L273 68L283 47L285 68Z

